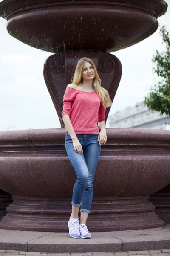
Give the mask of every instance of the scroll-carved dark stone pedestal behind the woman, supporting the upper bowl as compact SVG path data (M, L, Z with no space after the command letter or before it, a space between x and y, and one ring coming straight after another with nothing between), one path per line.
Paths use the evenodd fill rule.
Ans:
M51 55L44 64L44 79L59 116L62 128L65 127L62 120L62 108L66 85L71 83L70 81L73 78L77 62L84 56L91 58L94 61L99 77L102 80L102 86L108 90L112 101L119 86L122 76L122 65L119 59L110 53L90 50L73 50ZM64 84L65 86L63 86ZM106 108L105 120L108 118L110 109L111 107Z

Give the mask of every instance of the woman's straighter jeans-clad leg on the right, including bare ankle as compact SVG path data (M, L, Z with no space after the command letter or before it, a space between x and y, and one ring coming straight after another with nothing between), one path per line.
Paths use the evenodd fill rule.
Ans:
M93 199L93 182L94 175L99 160L99 155L101 151L101 145L97 141L98 134L87 134L85 149L84 149L84 158L89 171L89 178L87 185L85 187L85 192L82 198L81 204L81 219L80 224L86 224L88 214L90 213L91 203Z

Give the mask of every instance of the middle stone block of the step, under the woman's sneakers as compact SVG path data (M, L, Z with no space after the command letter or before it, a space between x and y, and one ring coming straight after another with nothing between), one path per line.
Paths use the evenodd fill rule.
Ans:
M69 233L53 233L44 238L28 241L28 251L86 253L123 250L122 241L114 238L113 232L93 232L91 235L91 239L73 239Z

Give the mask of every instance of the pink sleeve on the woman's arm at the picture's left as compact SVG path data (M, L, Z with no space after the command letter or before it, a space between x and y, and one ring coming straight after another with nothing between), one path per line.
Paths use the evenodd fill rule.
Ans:
M63 110L62 110L62 116L67 114L71 115L71 105L72 102L75 99L75 92L74 90L71 90L71 88L66 88L64 97L63 97Z

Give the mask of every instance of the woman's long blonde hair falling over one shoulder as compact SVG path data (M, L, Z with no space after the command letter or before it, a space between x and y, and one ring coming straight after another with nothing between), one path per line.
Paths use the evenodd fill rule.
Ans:
M110 97L108 91L101 86L101 79L99 77L99 74L97 73L94 62L91 59L84 57L78 61L75 72L74 72L72 83L77 84L77 85L80 83L80 81L82 79L82 68L85 64L85 61L90 62L90 64L94 68L95 79L93 81L93 84L94 84L96 93L99 94L99 96L100 96L103 107L105 107L105 108L110 107L112 105L111 97Z

